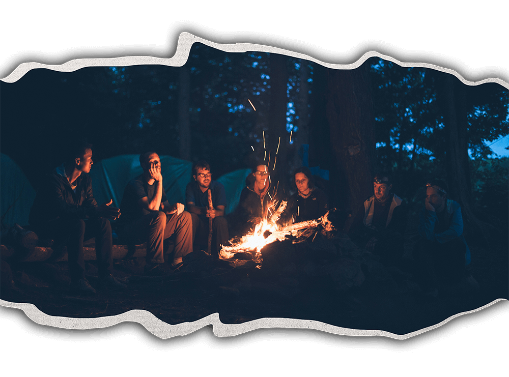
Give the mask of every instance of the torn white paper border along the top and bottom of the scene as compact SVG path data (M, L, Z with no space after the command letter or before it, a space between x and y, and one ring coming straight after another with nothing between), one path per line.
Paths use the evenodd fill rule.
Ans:
M217 48L219 50L225 52L247 52L247 51L260 51L260 52L272 52L284 54L287 56L297 57L298 59L304 59L311 62L318 63L326 68L333 69L354 69L360 67L367 59L370 57L380 57L383 60L393 62L402 67L424 67L430 68L437 71L450 73L456 76L466 85L480 85L485 82L495 82L506 89L509 89L509 84L499 78L487 78L481 81L467 81L463 77L461 77L456 71L447 69L444 67L439 67L433 64L428 63L403 63L398 60L393 59L392 57L384 54L380 54L376 51L366 52L364 55L360 57L360 59L353 64L329 64L321 62L317 59L314 59L311 56L277 48L272 46L265 46L259 44L252 43L236 43L236 44L221 44L210 42L206 39L196 37L190 33L181 33L179 36L177 51L175 55L169 59L163 59L160 57L153 56L124 56L124 57L115 57L115 58L106 58L106 59L74 59L62 65L47 65L41 63L22 63L20 64L9 76L2 79L4 82L15 82L19 80L23 75L29 72L32 69L38 68L46 68L51 69L53 71L60 72L72 72L76 71L80 68L84 67L114 67L114 66L133 66L133 65L164 65L169 67L181 67L187 62L187 57L189 56L189 51L193 43L203 43L207 46ZM423 332L427 332L429 330L436 329L445 323L449 322L453 318L456 318L460 315L473 313L484 308L487 308L498 301L507 301L507 299L497 299L488 303L480 308L469 310L465 312L461 312L455 315L451 315L446 318L444 321L423 328L421 330L413 331L408 334L398 335L393 334L388 331L383 330L356 330L356 329L347 329L343 327L337 327L333 325L328 325L319 321L312 320L295 320L290 318L260 318L259 320L249 321L242 324L223 324L219 320L219 313L210 314L201 320L197 320L194 322L183 322L178 325L169 325L157 318L154 314L150 313L146 310L129 310L125 313L113 315L113 316L104 316L98 318L70 318L70 317L60 317L48 315L40 311L34 304L27 303L12 303L8 301L4 301L0 299L0 304L5 307L21 309L32 321L40 325L53 326L62 329L74 329L74 330L86 330L86 329L99 329L106 328L110 326L114 326L116 324L128 321L128 322L137 322L143 325L148 331L152 334L158 336L162 339L171 338L174 336L182 336L190 334L196 330L201 329L202 327L212 325L214 335L220 337L227 336L235 336L239 334L243 334L249 332L251 330L261 329L261 328L288 328L288 329L314 329L319 331L328 332L331 334L337 335L350 335L350 336L385 336L393 339L407 339L413 337L415 335L421 334Z

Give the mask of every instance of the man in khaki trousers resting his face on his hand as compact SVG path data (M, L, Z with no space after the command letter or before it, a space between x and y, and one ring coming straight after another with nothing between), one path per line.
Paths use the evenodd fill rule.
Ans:
M163 242L175 234L172 270L182 266L184 255L192 251L192 222L189 212L181 203L169 204L163 189L161 161L155 152L139 156L142 175L132 179L124 190L122 229L120 238L125 242L147 242L148 275L164 274Z

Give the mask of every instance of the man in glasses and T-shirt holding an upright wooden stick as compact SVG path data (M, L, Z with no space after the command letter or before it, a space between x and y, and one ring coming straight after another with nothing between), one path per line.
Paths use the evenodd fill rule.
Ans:
M202 244L204 236L209 234L210 219L212 219L212 255L218 256L220 245L225 245L230 239L228 222L224 217L226 207L226 192L224 186L212 181L210 166L206 161L198 161L193 168L193 181L186 187L186 204L192 218L192 236L194 249ZM212 209L209 209L208 190L212 196Z

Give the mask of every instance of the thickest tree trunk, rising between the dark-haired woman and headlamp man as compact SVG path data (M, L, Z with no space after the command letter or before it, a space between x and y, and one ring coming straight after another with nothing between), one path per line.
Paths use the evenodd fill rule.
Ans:
M332 155L337 164L338 186L343 199L338 209L352 210L353 218L373 193L375 127L371 80L367 65L354 70L330 70L327 119Z

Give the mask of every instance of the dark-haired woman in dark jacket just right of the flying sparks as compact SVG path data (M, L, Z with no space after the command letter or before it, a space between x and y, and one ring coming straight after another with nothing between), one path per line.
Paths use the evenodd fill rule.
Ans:
M327 195L315 186L308 167L299 167L294 172L297 192L288 200L288 205L279 221L290 224L306 220L317 220L327 212Z

